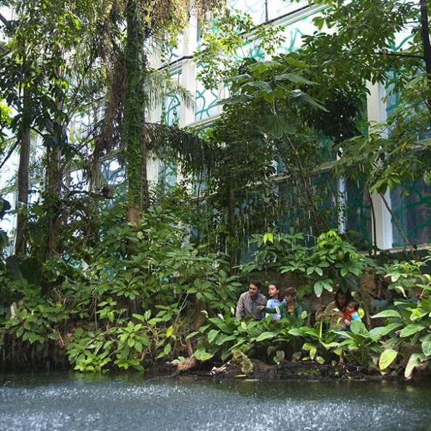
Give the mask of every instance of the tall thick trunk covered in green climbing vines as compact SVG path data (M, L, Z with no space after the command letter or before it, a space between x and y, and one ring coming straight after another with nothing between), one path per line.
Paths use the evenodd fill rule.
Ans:
M126 98L124 101L124 146L126 148L126 176L128 183L128 221L140 220L142 210L142 142L144 121L143 52L144 26L139 19L137 1L126 3Z

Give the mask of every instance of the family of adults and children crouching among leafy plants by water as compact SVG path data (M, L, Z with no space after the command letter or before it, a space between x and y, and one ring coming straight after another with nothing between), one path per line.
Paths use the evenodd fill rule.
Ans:
M248 291L239 296L236 316L242 319L246 316L253 316L253 319L264 319L269 314L273 315L273 320L284 319L294 316L298 321L302 321L303 308L296 301L296 289L287 287L283 292L280 285L273 283L268 286L269 299L262 295L262 283L253 280L248 286ZM337 289L335 300L329 303L325 310L322 308L321 299L316 302L316 321L325 318L330 320L331 328L350 330L352 321L361 320L359 314L360 303L356 301L350 291Z

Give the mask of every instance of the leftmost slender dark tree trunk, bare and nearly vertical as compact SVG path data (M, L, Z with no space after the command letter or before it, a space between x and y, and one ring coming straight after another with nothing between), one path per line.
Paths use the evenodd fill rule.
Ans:
M17 200L17 233L15 239L15 254L26 252L26 235L24 233L27 219L28 204L28 164L30 162L30 109L31 94L24 88L23 114L21 130L19 131L20 153L18 167L18 200Z

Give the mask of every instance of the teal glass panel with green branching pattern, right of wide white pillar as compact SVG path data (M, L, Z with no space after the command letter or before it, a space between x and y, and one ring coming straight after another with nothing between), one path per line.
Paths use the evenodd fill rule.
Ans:
M401 196L401 189L391 191L391 208L409 242L428 243L431 241L431 186L419 180L407 185L406 188L409 192L408 196ZM394 221L392 234L394 237L392 246L405 246Z

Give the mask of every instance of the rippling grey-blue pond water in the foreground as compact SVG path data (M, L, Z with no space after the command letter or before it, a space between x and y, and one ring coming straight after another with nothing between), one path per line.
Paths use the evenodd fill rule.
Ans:
M0 376L0 431L431 430L431 384ZM4 386L3 386L4 384Z

